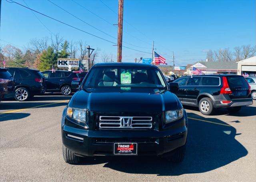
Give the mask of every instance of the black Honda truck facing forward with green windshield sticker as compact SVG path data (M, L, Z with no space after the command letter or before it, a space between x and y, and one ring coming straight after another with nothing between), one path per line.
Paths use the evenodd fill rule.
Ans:
M65 162L86 156L157 155L181 162L188 118L160 69L150 64L92 66L62 115Z

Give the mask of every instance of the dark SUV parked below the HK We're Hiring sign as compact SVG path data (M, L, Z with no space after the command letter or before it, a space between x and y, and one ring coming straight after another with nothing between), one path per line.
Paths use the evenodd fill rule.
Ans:
M64 96L72 94L71 82L79 80L78 75L71 71L47 70L42 74L45 76L46 92L60 92Z

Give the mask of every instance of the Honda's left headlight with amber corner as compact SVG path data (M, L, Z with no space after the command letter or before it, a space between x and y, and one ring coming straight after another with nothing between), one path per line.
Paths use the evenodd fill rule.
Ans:
M78 124L86 124L86 110L68 107L67 116L76 120Z

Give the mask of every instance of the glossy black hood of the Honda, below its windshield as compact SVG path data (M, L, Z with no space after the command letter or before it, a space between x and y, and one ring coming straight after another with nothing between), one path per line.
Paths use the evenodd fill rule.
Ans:
M80 90L68 105L96 112L162 112L182 108L178 98L170 91L148 88Z

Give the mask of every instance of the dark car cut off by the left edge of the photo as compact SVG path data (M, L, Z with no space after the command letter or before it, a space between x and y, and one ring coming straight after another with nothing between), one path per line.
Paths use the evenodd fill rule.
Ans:
M14 79L7 68L0 68L0 101L14 97Z

